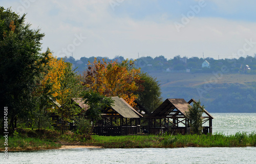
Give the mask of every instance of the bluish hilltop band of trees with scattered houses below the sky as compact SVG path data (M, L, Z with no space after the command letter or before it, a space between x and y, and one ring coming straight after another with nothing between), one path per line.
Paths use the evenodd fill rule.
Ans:
M256 56L255 56L256 57ZM173 59L167 60L164 56L152 58L150 56L136 59L135 65L140 67L144 72L161 71L172 73L212 73L213 71L221 71L225 68L228 73L234 74L256 74L256 58L252 56L240 57L239 59L219 59L198 58L198 57L180 57L175 56ZM82 72L87 69L88 61L93 62L95 57L81 57L76 60L72 56L65 57L66 62L73 64L76 71ZM105 58L106 61L124 60L122 56L116 56L113 59L108 57L97 57L97 59ZM59 58L60 59L60 58Z

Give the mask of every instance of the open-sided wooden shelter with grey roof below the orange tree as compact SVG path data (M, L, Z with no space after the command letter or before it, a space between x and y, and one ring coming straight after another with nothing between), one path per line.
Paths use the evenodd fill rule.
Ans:
M140 132L142 115L119 97L111 97L114 104L105 109L101 120L94 126L98 135L128 135Z

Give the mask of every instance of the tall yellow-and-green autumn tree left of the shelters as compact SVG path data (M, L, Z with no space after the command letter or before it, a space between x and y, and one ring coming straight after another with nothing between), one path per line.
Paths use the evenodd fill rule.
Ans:
M81 83L79 77L72 70L71 63L58 60L56 57L50 56L47 63L50 70L45 78L41 81L43 87L51 84L51 98L56 100L61 107L50 109L55 112L61 119L61 132L65 130L65 124L70 122L72 117L79 112L73 98L77 98L81 91Z

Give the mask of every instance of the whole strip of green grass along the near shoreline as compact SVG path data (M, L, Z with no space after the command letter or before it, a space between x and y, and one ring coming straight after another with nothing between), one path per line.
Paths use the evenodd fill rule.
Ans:
M0 143L5 138L0 137ZM9 151L56 149L61 145L90 145L104 148L182 148L182 147L255 147L256 133L238 132L233 135L222 133L208 135L126 135L99 136L85 139L72 132L60 134L54 130L24 130L8 138ZM5 149L4 144L0 150Z

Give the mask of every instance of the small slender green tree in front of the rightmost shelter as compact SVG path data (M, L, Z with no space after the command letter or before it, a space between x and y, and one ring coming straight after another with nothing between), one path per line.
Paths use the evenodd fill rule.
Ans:
M188 112L186 112L186 115L189 119L189 126L192 128L192 132L194 134L202 133L203 112L204 106L201 106L200 100L198 102L194 102L193 106L188 106Z

